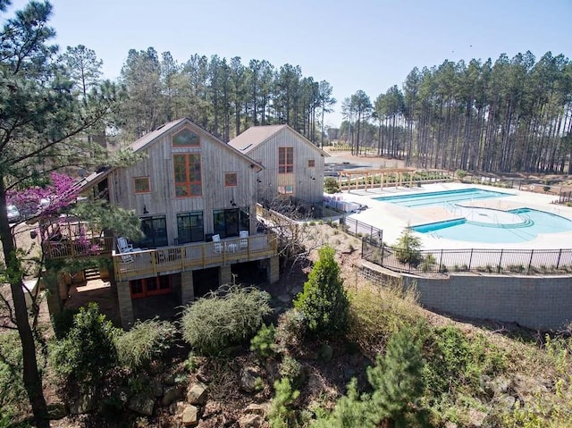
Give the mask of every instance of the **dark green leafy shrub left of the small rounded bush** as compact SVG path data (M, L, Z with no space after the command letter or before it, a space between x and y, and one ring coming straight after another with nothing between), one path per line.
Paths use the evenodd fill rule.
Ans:
M55 373L68 382L86 386L99 382L117 364L116 335L113 324L99 312L96 303L80 308L70 332L52 348Z

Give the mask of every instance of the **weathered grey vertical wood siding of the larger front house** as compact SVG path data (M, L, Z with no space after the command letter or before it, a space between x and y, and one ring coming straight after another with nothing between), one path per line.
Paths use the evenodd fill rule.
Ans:
M187 127L200 137L200 147L172 147L172 135ZM118 168L109 179L110 200L135 210L139 216L165 215L169 244L177 238L177 214L203 212L205 233L214 230L213 210L249 207L250 232L256 230L257 168L204 131L181 124L159 136L140 151L147 156L138 164ZM201 197L175 197L172 155L198 153L201 156ZM236 172L238 186L224 187L224 173ZM135 177L149 177L150 192L135 193ZM144 208L147 214L144 214Z

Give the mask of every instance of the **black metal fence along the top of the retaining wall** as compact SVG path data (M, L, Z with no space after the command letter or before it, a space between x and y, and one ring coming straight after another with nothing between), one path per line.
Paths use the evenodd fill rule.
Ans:
M362 258L403 273L572 273L572 249L424 249L383 245L362 239Z

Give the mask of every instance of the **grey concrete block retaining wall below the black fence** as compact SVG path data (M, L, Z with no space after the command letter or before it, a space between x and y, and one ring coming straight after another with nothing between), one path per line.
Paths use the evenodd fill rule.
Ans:
M416 286L419 303L435 312L518 323L547 331L572 323L572 276L508 276L451 273L425 278L364 263L361 274L375 283Z

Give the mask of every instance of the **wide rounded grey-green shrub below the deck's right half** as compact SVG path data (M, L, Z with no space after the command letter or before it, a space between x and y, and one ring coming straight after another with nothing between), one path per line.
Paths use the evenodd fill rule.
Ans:
M252 287L221 288L183 312L182 336L205 355L219 355L254 336L272 312L270 295Z

